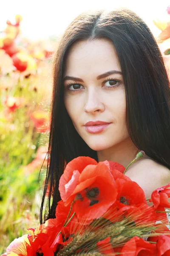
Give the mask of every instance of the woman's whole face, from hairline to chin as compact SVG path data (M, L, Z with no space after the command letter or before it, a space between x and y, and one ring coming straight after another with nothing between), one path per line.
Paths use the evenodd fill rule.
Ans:
M90 148L101 151L125 142L125 87L111 41L76 42L66 58L64 87L65 108Z

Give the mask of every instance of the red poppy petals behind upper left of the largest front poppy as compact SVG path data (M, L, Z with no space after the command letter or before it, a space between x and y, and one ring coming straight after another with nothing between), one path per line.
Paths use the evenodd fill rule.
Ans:
M77 186L79 175L89 164L97 165L97 162L91 157L77 157L65 167L64 173L59 180L59 192L64 202Z

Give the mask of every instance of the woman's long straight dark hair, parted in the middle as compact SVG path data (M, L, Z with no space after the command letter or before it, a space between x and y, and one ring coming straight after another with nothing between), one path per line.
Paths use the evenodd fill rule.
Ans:
M129 9L79 15L68 26L54 55L47 174L40 223L55 218L59 178L65 165L78 156L97 160L68 116L63 101L63 71L71 45L78 40L108 38L113 42L125 84L127 129L134 145L170 169L170 89L159 47L144 21ZM43 205L48 201L42 221Z

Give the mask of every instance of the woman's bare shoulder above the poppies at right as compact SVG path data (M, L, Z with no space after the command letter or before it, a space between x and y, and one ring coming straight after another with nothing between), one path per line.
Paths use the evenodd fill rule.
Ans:
M149 157L138 159L127 169L126 175L142 187L146 198L153 190L170 183L170 169Z

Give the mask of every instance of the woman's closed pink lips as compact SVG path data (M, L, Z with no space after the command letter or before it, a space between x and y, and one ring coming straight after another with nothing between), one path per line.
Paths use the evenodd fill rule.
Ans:
M108 122L90 121L85 124L85 129L86 129L86 131L88 131L90 133L99 133L99 132L102 132L103 130L105 130L105 128L107 128L108 125L110 125L110 123L108 123Z

